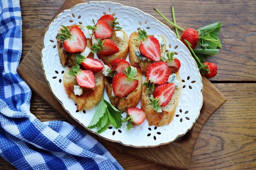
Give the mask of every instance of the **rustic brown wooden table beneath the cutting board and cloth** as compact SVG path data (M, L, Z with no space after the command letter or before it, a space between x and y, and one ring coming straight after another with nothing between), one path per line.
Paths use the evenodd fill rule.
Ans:
M21 0L22 59L64 1ZM177 23L184 28L198 28L219 20L222 22L220 39L223 48L218 56L207 58L207 61L218 65L218 75L211 82L225 95L227 102L202 129L190 169L256 169L256 1L112 1L138 7L162 22L164 20L153 7L171 19L170 8L174 6ZM41 121L65 121L64 117L34 93L31 112ZM108 148L125 170L172 169ZM15 168L0 158L0 169Z

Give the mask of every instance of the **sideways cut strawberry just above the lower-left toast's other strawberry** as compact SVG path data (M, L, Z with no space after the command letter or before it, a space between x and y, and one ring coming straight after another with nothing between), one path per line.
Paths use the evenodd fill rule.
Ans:
M81 64L86 70L90 70L93 73L98 73L104 68L102 62L95 58L85 58Z

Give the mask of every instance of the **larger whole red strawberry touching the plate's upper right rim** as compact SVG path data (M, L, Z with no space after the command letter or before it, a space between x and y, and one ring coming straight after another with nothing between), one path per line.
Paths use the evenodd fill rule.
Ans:
M191 44L191 48L195 49L198 44L198 32L192 28L185 29L180 37L180 40L188 47L188 45L184 41L187 40Z

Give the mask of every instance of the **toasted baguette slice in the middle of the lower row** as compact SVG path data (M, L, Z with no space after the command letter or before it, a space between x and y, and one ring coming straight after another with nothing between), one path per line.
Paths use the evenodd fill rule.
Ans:
M139 103L141 97L141 86L142 86L142 77L141 77L141 69L137 65L132 65L133 67L137 67L137 75L136 77L139 78L139 84L137 88L132 91L127 97L113 97L112 96L112 77L104 76L104 84L106 91L108 93L108 97L110 102L113 106L115 106L118 110L126 110L130 107L136 107Z

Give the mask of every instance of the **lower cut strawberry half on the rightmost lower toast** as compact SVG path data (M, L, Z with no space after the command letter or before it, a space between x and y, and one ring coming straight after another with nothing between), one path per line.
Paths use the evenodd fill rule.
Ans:
M166 106L173 97L175 91L175 84L163 84L155 88L153 96L155 99L159 99L158 103L160 106Z

